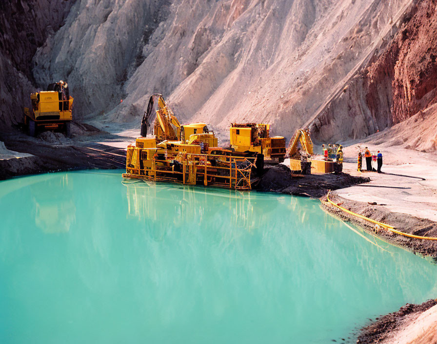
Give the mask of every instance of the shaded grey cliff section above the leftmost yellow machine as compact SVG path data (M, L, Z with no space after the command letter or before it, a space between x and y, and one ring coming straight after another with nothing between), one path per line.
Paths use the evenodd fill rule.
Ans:
M144 60L141 49L165 19L167 3L78 0L33 58L37 84L67 80L76 116L109 112L125 97L125 83Z

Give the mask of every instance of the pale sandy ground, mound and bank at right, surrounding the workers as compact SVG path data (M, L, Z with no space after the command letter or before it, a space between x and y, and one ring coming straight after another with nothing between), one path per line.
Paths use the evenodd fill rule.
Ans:
M332 193L332 200L355 213L395 226L417 236L437 237L437 106L396 126L369 136L364 142L346 144L343 171L368 176L371 181ZM383 154L382 172L358 172L358 150L369 147ZM420 151L419 151L420 150ZM373 163L376 168L376 163ZM365 161L363 162L365 168ZM358 223L369 232L375 226L326 207L336 215ZM424 256L437 257L437 241L403 237L386 230L377 236Z

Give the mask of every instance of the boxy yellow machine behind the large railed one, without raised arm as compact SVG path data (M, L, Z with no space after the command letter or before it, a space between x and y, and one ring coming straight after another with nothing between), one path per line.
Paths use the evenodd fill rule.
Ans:
M285 138L270 137L270 125L259 123L231 123L231 148L236 152L264 154L266 160L284 161Z

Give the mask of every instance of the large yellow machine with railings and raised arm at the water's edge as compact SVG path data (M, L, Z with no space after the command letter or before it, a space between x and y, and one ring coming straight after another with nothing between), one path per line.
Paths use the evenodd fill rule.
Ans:
M232 151L217 147L217 138L204 123L180 126L160 94L150 98L142 124L152 110L155 136L144 137L147 130L142 128L143 137L127 147L124 178L251 189L257 180L256 158L233 156Z

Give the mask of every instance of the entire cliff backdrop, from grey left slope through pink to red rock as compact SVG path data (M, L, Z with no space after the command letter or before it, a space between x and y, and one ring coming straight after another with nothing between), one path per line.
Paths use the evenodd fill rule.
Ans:
M436 68L435 0L77 0L64 10L24 60L38 86L69 83L77 117L138 126L159 92L181 121L224 134L257 121L334 140L435 101L424 81Z

